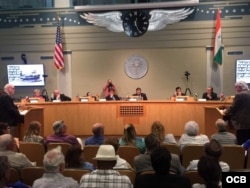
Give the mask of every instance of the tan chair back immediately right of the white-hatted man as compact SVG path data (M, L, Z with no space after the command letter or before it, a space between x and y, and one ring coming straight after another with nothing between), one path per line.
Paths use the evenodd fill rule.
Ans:
M120 146L117 154L125 159L134 168L134 157L140 155L140 150L135 146Z

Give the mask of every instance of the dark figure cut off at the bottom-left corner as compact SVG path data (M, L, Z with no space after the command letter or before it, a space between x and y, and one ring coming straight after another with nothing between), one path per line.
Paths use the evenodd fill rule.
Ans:
M23 184L21 181L8 182L10 179L10 164L8 157L0 156L0 187L1 188L28 188L28 185Z

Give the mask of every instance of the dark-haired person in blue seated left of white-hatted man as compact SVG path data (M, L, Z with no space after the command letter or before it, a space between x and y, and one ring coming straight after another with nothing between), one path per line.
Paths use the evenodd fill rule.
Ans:
M84 161L84 152L79 146L72 146L67 150L65 155L65 167L94 170L93 164Z

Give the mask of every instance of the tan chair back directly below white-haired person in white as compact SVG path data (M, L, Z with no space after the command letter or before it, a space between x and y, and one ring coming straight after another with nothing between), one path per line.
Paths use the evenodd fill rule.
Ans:
M204 145L203 144L190 144L186 145L182 149L182 165L187 168L190 164L190 161L195 159L200 159L204 155Z

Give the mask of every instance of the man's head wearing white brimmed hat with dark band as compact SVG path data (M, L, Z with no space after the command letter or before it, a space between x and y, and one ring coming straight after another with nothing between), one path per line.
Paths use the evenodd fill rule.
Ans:
M99 169L113 169L117 159L114 147L111 145L100 145L94 159L97 160Z

